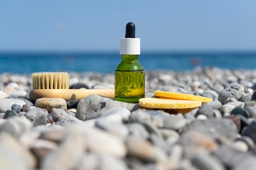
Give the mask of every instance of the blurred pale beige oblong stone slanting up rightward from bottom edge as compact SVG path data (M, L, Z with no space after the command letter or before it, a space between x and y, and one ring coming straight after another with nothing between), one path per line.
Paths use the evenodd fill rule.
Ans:
M41 170L72 170L83 157L86 148L81 132L67 132L61 144L40 162ZM68 156L67 156L68 153Z

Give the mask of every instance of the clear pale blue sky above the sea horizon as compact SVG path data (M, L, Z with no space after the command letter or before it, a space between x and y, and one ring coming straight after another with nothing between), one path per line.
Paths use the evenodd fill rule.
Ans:
M1 0L0 51L256 50L256 0Z

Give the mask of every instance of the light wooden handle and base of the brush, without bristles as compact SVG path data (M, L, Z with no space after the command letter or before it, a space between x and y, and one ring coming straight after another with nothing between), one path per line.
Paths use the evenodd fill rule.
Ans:
M30 91L29 98L33 101L42 97L81 100L92 94L115 99L115 89L34 89Z

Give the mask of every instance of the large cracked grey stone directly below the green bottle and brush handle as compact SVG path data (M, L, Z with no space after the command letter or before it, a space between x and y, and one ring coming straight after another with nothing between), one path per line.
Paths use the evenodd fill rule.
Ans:
M130 112L137 110L139 104L119 102L100 95L89 95L77 104L77 118L85 121L106 115L116 108L127 108Z

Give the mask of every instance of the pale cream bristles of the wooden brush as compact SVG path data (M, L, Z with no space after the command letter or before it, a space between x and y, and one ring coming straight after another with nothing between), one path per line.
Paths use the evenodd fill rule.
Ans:
M33 89L68 89L69 74L66 72L42 72L32 74Z

